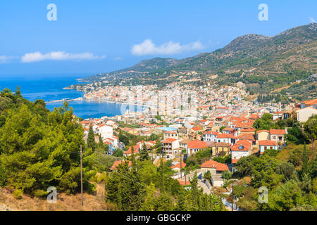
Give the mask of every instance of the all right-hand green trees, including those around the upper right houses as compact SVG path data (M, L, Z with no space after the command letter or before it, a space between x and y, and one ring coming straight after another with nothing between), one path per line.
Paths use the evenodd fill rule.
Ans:
M265 114L254 122L260 129L287 129L288 145L263 155L241 158L237 174L251 177L251 186L235 187L237 205L244 210L317 210L317 115L299 123L293 118L273 122ZM306 143L311 143L306 146ZM258 188L268 188L268 204L258 201Z

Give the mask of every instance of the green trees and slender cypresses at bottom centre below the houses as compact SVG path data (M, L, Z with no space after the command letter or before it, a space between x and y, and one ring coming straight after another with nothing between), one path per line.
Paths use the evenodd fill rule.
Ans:
M197 176L187 189L170 178L170 161L156 167L146 157L135 160L132 155L131 160L131 169L121 163L106 179L106 199L118 210L224 210L219 197L199 190Z

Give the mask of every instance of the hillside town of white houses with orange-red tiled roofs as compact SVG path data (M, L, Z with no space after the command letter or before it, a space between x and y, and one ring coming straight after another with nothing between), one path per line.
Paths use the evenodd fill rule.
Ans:
M248 95L240 89L240 85L218 90L209 86L197 89L187 86L188 90L197 91L195 116L191 106L191 110L172 110L173 113L166 113L166 105L160 105L155 113L149 109L128 110L123 115L82 120L80 124L85 128L85 140L92 127L96 142L102 140L108 146L109 155L122 152L125 159L114 162L111 171L116 170L125 160L129 161L132 153L138 157L142 148L146 148L154 165L159 165L160 160L171 162L170 168L174 172L171 177L178 180L180 185L189 187L190 180L197 174L198 186L204 193L211 194L217 190L220 193L230 193L232 190L224 174L236 172L236 164L241 158L262 155L266 150L281 150L287 146L287 129L291 127L256 129L256 120L271 115L273 122L290 118L306 122L309 117L317 115L317 98L290 105L259 104L247 100ZM166 89L178 88L175 84L166 86ZM139 101L142 105L152 106L150 99L157 94L153 89L154 86L142 88L142 101ZM121 93L127 90L129 87L107 86L106 89L88 92L85 99L128 103L129 97L120 98L123 96ZM133 95L133 99L137 101L137 95ZM170 104L175 104L175 101L177 98L174 96ZM142 141L133 145L128 141L128 146L125 146L120 137L127 134L137 136ZM206 150L211 153L209 160L193 162L194 155ZM223 199L223 203L231 207L227 200Z

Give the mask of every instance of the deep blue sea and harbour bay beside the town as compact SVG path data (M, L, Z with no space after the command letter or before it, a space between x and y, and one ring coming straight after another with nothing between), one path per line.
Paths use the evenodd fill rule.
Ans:
M25 76L0 76L0 90L4 88L15 91L20 86L21 94L29 101L43 99L44 101L61 100L63 98L79 98L84 96L82 91L65 90L66 86L78 84L77 79L86 76L80 75L25 75ZM62 102L47 103L46 108L54 110L63 105ZM106 103L93 101L70 101L74 114L83 119L112 117L125 113L125 107L120 103Z

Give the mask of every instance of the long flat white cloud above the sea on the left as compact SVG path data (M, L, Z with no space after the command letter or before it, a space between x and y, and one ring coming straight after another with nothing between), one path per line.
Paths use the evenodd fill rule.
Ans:
M21 58L22 63L33 63L43 60L93 60L105 58L106 56L94 56L92 53L67 53L65 51L52 51L42 54L39 51L34 53L25 53Z

